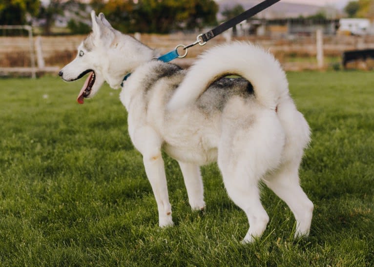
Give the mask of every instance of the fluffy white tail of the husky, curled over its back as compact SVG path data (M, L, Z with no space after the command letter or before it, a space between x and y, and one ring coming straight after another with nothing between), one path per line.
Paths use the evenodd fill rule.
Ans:
M289 93L286 74L269 52L248 42L234 42L213 47L199 57L167 104L168 109L194 103L212 82L230 74L251 82L257 101L270 109Z

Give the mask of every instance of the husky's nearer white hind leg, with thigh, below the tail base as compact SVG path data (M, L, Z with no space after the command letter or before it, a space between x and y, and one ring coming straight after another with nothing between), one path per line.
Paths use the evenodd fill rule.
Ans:
M281 127L276 120L266 118L258 120L252 131L231 127L220 141L218 166L225 187L249 221L243 243L260 237L268 224L269 216L260 201L258 182L278 165L283 144Z

